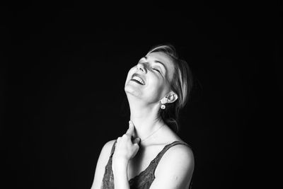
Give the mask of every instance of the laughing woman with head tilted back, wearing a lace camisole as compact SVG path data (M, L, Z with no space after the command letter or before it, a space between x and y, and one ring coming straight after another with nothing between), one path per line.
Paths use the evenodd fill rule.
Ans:
M194 156L173 130L191 86L190 69L172 45L152 48L129 70L129 129L104 145L92 189L190 187Z

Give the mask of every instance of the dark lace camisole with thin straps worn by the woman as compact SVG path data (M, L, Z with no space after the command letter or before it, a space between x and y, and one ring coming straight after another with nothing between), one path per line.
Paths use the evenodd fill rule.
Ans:
M115 151L115 143L113 144L110 157L108 160L108 164L105 166L105 173L103 176L103 183L101 188L103 189L114 189L114 176L113 176L113 171L112 171L112 156ZM163 154L170 149L171 147L177 145L177 144L186 144L185 142L180 142L180 141L175 141L172 142L171 144L167 144L158 154L157 156L151 161L149 166L144 170L139 173L139 175L135 176L134 178L129 180L129 188L131 189L148 189L151 186L151 183L154 181L154 171L156 170L156 167L161 160ZM189 146L190 147L190 146ZM192 181L190 183L190 188L192 185Z

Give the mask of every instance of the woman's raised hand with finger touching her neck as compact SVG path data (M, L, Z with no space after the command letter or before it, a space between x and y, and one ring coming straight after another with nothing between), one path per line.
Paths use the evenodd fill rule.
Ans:
M132 141L134 134L134 125L132 121L129 121L129 129L122 137L118 137L116 142L115 151L112 157L113 166L117 164L127 164L139 151L139 138Z

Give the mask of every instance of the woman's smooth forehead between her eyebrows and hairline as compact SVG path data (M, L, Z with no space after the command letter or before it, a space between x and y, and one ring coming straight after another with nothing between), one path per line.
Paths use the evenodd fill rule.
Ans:
M147 54L146 57L149 61L162 62L166 69L166 75L168 76L168 79L171 79L173 77L175 66L171 57L166 55L164 52L151 52Z

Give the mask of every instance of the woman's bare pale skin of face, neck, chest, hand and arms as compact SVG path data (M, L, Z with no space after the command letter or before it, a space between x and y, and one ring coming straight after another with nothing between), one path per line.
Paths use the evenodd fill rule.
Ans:
M162 99L166 103L173 103L178 99L177 94L170 89L173 71L174 65L170 57L163 52L152 52L141 58L127 74L125 92L131 114L129 129L122 137L118 137L112 157L115 188L129 188L129 180L144 171L166 144L182 141L158 115ZM132 81L133 74L138 74L145 84ZM155 132L156 130L158 131ZM146 138L153 132L151 137ZM102 185L105 166L114 142L115 140L107 142L100 152L92 189ZM194 165L194 156L189 147L171 147L156 168L151 188L187 188Z

